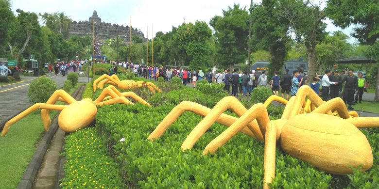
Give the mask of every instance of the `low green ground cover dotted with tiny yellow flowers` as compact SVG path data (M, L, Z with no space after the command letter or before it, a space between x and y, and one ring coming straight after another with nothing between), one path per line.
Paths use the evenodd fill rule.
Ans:
M65 138L65 177L62 188L126 188L119 167L99 139L94 127L81 129Z

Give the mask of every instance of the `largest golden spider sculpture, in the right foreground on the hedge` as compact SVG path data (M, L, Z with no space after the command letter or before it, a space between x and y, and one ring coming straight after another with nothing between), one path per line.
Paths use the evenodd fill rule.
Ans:
M306 97L311 101L308 106L314 105L310 113L304 113L307 112L303 108ZM271 101L276 99L280 98L273 97ZM249 110L232 96L224 97L212 110L183 102L166 116L148 139L160 137L177 116L190 110L205 117L189 133L181 146L183 150L192 148L215 121L229 127L206 146L203 155L214 154L240 131L264 140L263 188L266 189L275 177L276 142L286 154L310 162L328 173L352 173L349 166L362 166L362 171L366 171L373 165L371 146L358 128L378 127L379 117L355 117L356 112L348 112L341 98L323 102L307 85L300 87L296 96L290 98L281 119L270 121L266 106L271 102L266 102L255 104ZM224 114L227 109L236 112L240 118ZM338 116L334 116L332 110Z

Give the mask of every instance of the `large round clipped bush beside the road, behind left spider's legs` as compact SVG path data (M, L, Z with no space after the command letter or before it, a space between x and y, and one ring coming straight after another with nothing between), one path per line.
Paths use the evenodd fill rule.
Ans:
M50 78L41 77L34 79L29 85L29 101L31 103L46 102L57 88L58 86L55 81Z

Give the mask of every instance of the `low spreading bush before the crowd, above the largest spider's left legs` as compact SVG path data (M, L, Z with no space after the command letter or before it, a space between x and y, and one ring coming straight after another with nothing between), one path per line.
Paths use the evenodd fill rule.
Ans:
M209 83L207 80L202 79L196 84L197 90L203 94L210 96L217 96L222 98L227 96L227 92L224 90L224 83Z

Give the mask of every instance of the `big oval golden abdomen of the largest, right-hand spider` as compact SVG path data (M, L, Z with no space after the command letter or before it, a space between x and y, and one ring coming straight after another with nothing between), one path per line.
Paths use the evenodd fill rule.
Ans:
M340 117L299 114L287 121L280 136L284 152L328 173L348 174L349 166L360 165L366 171L373 165L367 138Z

